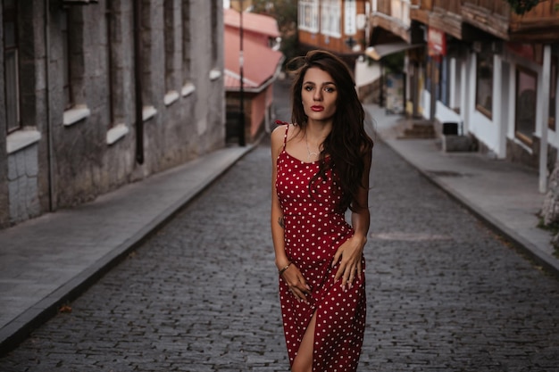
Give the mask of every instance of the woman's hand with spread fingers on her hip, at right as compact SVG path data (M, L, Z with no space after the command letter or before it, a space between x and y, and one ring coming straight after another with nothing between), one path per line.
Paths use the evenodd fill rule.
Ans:
M352 236L341 244L338 251L334 255L332 267L339 261L338 272L336 273L335 281L342 278L342 288L346 289L346 285L351 287L354 283L355 277L361 279L363 268L361 265L361 258L363 256L363 247L365 239L360 239L359 236Z

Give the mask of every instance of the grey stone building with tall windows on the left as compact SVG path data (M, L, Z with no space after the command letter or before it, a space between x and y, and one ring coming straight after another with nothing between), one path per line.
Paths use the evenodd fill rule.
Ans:
M221 0L0 4L0 227L225 145Z

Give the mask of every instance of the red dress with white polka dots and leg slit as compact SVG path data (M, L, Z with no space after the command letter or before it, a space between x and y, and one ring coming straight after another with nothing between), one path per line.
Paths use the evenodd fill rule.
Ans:
M334 281L338 265L331 268L338 247L353 236L344 213L338 211L342 190L335 172L326 180L309 182L318 172L319 162L300 161L284 148L277 161L276 190L284 214L285 249L288 259L301 270L311 293L309 303L299 302L280 277L280 303L289 362L293 364L313 313L316 327L313 345L313 372L356 371L365 328L365 280L355 278L346 290L342 280ZM327 160L328 161L328 160ZM364 269L364 260L362 259Z

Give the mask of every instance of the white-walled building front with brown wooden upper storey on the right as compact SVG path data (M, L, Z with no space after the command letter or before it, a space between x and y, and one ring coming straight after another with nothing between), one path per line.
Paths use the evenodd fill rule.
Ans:
M484 153L539 169L544 192L559 147L558 6L519 15L504 0L373 0L371 46L414 46L408 114L457 123Z

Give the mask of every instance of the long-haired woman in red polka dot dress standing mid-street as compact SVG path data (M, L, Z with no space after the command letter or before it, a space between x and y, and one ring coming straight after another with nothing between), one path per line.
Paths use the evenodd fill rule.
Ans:
M289 363L292 372L350 372L365 327L373 144L346 64L324 51L296 62L293 124L271 134L271 236Z

